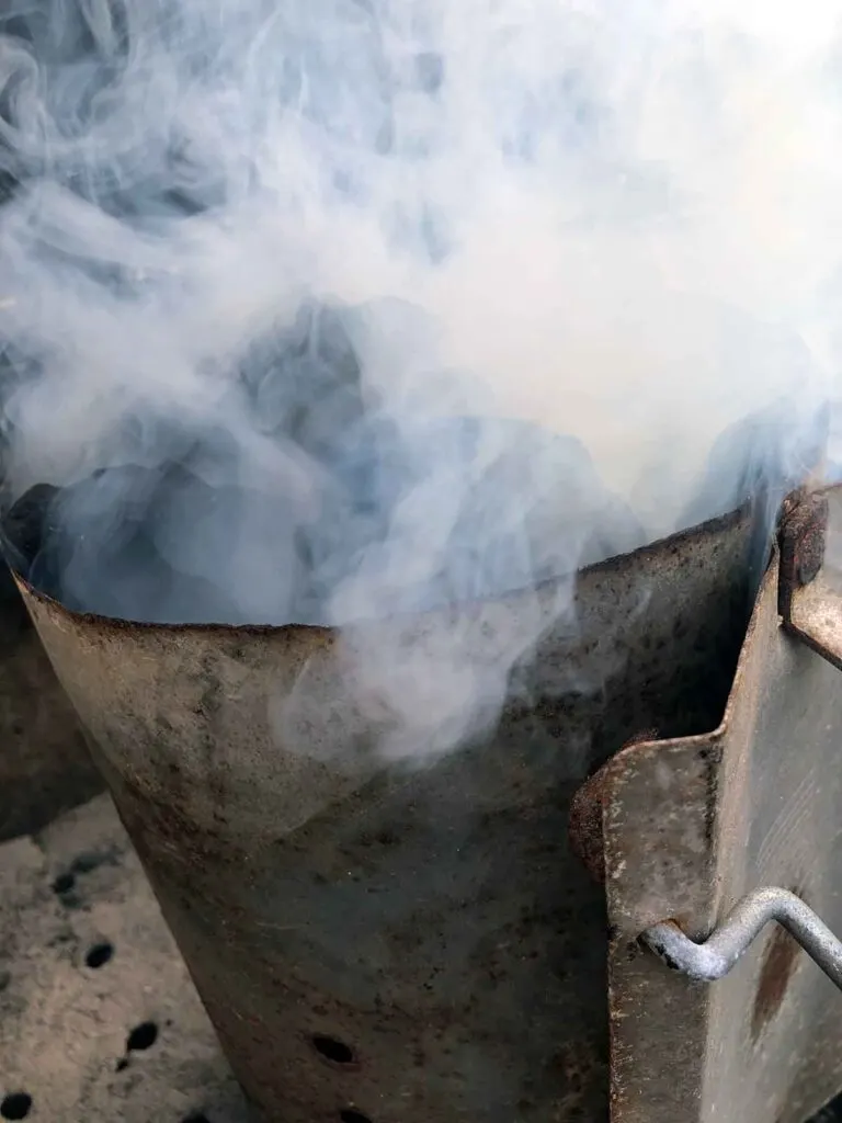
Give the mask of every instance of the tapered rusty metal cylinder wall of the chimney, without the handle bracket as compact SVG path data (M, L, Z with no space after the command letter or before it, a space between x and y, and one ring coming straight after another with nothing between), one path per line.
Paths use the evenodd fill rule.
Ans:
M328 630L129 624L20 582L265 1120L607 1119L604 894L570 801L641 729L720 721L751 537L738 513L583 572L577 627L548 629L495 734L415 773L338 751L374 731ZM306 751L271 718L302 675L326 700Z

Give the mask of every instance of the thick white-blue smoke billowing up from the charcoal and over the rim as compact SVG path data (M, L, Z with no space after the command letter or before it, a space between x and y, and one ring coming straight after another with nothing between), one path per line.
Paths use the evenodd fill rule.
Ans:
M80 610L344 627L400 755L492 721L577 566L820 458L839 17L10 0L6 502L47 496L12 564Z

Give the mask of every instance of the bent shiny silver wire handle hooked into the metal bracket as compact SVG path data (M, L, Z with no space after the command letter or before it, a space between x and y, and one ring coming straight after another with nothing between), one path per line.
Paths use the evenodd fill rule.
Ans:
M770 887L750 893L702 943L690 940L674 921L653 924L641 940L674 970L713 983L727 975L770 921L785 928L842 990L842 942L800 897L787 889Z

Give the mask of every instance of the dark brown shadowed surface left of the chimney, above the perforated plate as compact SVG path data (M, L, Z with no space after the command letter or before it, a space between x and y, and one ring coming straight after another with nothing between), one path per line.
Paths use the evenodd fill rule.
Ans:
M18 591L0 563L0 841L103 787Z

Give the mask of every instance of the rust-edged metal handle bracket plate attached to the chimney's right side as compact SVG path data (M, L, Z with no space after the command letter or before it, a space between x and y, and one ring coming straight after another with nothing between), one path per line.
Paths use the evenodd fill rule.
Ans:
M802 1123L842 1087L842 997L775 925L713 984L638 940L665 920L703 940L766 885L797 889L842 931L842 690L802 639L803 599L824 601L814 646L836 627L822 539L824 500L838 497L785 522L795 548L785 574L777 557L766 574L719 729L638 745L603 769L616 1123ZM778 615L781 576L797 636Z

